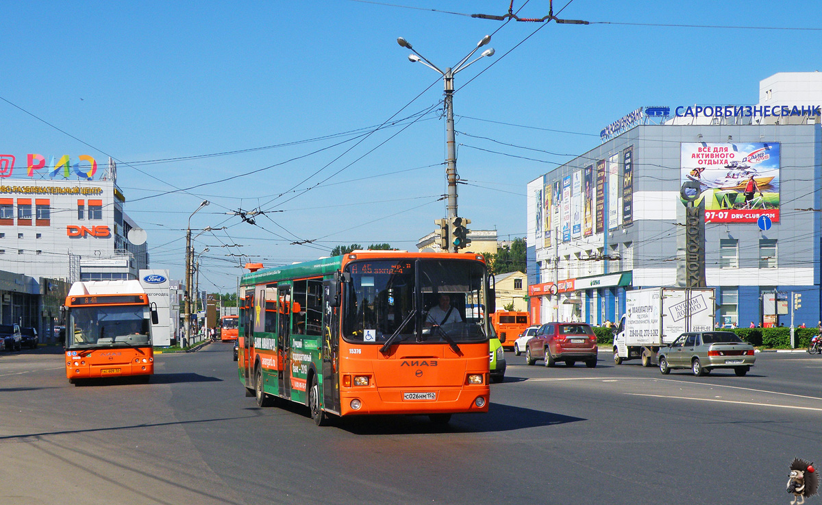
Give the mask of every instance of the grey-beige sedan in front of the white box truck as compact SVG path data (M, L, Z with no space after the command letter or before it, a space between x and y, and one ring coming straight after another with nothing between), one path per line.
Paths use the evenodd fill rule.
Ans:
M659 371L663 375L673 368L690 368L701 377L714 368L733 368L737 377L744 377L754 366L754 346L742 341L732 331L701 331L683 333L657 353Z

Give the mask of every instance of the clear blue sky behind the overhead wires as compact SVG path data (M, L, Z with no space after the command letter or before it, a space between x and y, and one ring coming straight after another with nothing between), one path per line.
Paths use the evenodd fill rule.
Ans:
M751 104L764 77L822 66L819 30L551 23L533 33L541 25L430 10L502 15L506 1L383 3L418 8L351 0L4 2L0 97L82 142L0 101L0 151L121 160L127 214L148 231L151 266L173 278L182 278L188 215L208 199L192 228L229 228L196 239L197 252L210 246L201 289L227 291L242 272L229 252L274 266L340 243L413 250L445 215L436 201L446 191L442 82L409 63L399 36L449 67L498 30L496 55L456 76L455 114L457 168L469 183L459 186L459 214L503 238L525 234L525 184L568 160L551 153L588 151L607 123L640 106ZM514 2L520 16L547 15L548 2L523 4ZM810 1L574 0L561 17L795 28L818 26L820 11ZM432 107L368 137L335 136L367 134ZM240 150L255 151L145 163ZM201 183L213 184L156 196ZM256 216L259 226L231 214L258 208L267 211ZM298 239L316 242L289 244ZM244 247L215 247L234 243Z

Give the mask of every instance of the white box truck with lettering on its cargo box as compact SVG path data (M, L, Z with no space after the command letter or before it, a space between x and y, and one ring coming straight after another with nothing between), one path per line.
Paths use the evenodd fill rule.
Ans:
M712 288L647 288L626 293L625 314L614 334L614 363L642 359L656 364L657 351L686 331L713 330Z

